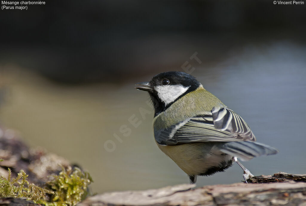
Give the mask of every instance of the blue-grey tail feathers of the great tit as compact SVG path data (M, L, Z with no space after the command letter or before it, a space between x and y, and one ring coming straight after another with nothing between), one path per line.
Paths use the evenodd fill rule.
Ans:
M265 144L257 142L227 142L222 145L220 151L236 156L242 161L248 161L254 157L262 155L274 155L278 150Z

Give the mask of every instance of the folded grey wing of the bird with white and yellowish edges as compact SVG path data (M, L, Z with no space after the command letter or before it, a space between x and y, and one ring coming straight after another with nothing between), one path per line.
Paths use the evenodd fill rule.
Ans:
M213 108L209 114L186 119L166 129L154 130L161 145L192 142L255 141L250 127L233 110Z

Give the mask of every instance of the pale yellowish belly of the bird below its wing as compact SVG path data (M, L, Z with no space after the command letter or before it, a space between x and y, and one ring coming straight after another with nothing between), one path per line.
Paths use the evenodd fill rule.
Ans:
M218 150L222 143L187 143L162 146L162 152L169 156L188 175L211 175L232 166L231 155Z

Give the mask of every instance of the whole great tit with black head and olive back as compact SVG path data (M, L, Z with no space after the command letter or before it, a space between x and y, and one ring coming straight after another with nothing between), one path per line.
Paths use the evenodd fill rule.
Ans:
M203 88L195 77L184 72L164 72L150 82L135 84L147 91L154 106L155 141L188 176L221 172L237 162L247 182L253 177L238 160L250 160L278 151L256 143L244 120Z

